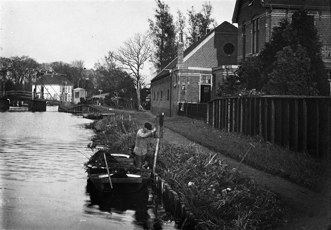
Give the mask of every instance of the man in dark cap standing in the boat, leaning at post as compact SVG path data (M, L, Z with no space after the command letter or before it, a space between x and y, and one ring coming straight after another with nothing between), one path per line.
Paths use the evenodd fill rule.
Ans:
M151 137L156 132L156 128L152 129L150 123L145 123L144 127L138 130L135 147L133 152L135 153L135 166L137 168L142 168L145 158L154 158L154 149L151 147ZM157 161L163 166L168 166L169 163L160 154L157 155Z

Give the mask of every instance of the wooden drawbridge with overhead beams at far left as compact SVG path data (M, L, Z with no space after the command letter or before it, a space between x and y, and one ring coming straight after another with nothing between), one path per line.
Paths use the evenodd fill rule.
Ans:
M66 76L62 73L46 71L41 69L33 69L33 68L2 68L0 69L1 74L6 74L7 72L15 71L15 70L26 70L37 73L35 76L35 89L37 88L37 78L43 76L44 74L52 74L58 76ZM9 100L22 100L29 101L28 109L29 111L46 111L46 102L54 101L49 99L37 99L37 92L26 92L26 91L7 91L0 93L0 109L6 110L9 109Z

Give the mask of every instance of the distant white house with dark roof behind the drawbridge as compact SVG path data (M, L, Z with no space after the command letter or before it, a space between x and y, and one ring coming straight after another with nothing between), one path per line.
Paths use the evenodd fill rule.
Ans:
M42 99L60 101L61 97L61 101L72 101L72 88L73 84L65 76L44 74L37 80L36 93Z

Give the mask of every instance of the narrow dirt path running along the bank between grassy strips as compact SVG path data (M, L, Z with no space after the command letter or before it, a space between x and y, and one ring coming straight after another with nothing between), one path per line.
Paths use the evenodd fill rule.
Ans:
M134 113L136 112L132 112L133 118L141 124L144 124L145 122L154 124L155 122L155 116L150 112L143 112L139 116ZM167 123L165 123L164 127L164 140L177 145L196 145L203 151L213 152L190 141L186 137L167 129ZM227 156L220 153L218 153L218 155L219 157L226 158L227 163L233 168L236 168L239 164L238 161ZM325 182L325 190L322 193L316 193L283 178L272 176L245 164L241 164L239 171L252 177L258 184L266 186L270 191L278 193L287 203L289 211L286 213L287 222L284 223L284 230L331 230L330 180Z

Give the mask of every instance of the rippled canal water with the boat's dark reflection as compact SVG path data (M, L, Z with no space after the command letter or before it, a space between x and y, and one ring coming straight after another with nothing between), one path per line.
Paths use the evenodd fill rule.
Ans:
M91 120L47 106L0 112L1 229L177 229L150 188L102 193L88 183L81 153Z

